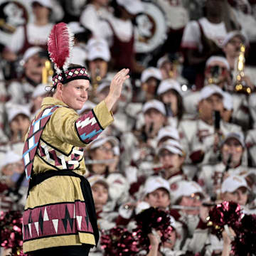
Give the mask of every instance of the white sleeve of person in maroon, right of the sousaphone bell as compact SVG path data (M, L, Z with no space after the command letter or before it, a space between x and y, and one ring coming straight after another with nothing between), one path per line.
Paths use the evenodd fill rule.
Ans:
M197 21L188 22L184 29L181 47L198 49L201 42L201 31Z

